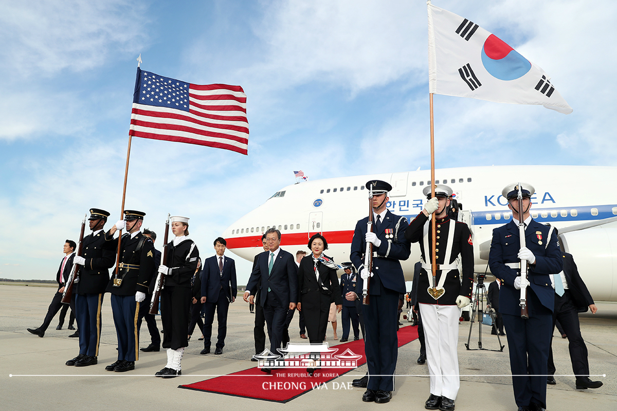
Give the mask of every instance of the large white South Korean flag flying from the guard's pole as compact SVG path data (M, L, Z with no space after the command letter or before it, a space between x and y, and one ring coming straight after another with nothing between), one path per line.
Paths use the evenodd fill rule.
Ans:
M534 63L476 23L428 3L429 92L572 108Z

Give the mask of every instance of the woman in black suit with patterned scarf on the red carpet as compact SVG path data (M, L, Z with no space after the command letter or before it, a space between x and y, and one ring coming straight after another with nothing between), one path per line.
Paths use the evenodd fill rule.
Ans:
M312 254L300 261L298 311L304 314L304 322L311 343L321 344L326 339L330 304L336 303L337 312L342 309L341 289L336 270L339 266L323 254L328 242L321 234L309 240Z

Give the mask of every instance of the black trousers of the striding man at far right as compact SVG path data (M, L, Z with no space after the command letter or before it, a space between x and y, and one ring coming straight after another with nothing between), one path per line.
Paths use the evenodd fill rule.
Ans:
M587 359L587 346L581 336L581 326L579 325L578 311L570 296L569 290L565 290L564 295L555 294L555 310L553 311L553 328L555 321L559 320L563 331L568 336L568 349L572 370L577 376L589 376L589 360ZM551 348L549 352L549 374L555 374L555 363L553 363L553 336L550 338Z

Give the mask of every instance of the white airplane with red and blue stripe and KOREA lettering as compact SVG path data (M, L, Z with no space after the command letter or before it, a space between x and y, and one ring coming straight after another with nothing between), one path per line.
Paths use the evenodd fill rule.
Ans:
M488 269L492 230L512 218L501 191L511 182L536 188L531 215L559 229L563 249L573 254L582 279L596 301L617 301L617 192L610 181L617 167L602 166L482 166L435 171L436 183L452 187L462 206L458 219L473 234L476 273ZM234 222L223 237L238 256L253 261L263 251L261 237L270 227L281 231L281 246L294 253L309 251L311 235L328 240L328 256L349 261L355 224L368 215L366 181L390 182L388 210L411 221L423 209L422 189L430 184L429 170L371 174L302 182L284 187L265 203ZM405 280L412 280L420 246L402 261Z

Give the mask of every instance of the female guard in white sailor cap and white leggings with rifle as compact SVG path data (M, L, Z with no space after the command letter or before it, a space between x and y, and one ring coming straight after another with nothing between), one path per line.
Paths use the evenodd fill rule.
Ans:
M176 237L167 243L167 261L161 261L159 273L165 275L160 293L160 319L163 324L163 348L167 365L155 376L173 378L182 375L181 360L188 346L189 311L193 293L193 274L197 270L199 250L189 235L188 217L170 218Z

